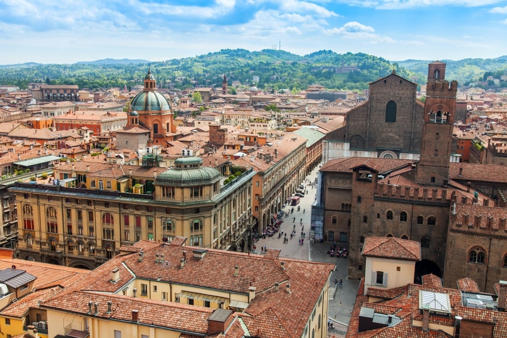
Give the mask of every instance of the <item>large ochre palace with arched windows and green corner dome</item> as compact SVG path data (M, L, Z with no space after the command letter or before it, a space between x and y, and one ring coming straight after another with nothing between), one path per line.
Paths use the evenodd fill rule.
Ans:
M93 269L120 247L146 239L246 252L251 246L251 193L246 169L223 184L197 157L173 169L75 162L46 184L17 182L18 257ZM61 173L61 175L60 175ZM60 180L61 178L61 180Z

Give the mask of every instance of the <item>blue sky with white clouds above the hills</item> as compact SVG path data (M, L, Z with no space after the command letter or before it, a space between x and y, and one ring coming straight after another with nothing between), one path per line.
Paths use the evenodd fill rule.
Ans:
M499 0L0 0L0 64L236 48L460 60L506 55L506 41Z

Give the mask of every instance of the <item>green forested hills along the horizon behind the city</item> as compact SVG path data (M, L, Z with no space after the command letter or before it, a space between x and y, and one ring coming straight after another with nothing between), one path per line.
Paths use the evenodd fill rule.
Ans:
M479 60L482 59L447 61L447 78L460 80L456 75L464 77L461 72L467 71L473 73L475 78L482 78L485 71L497 71L507 64L507 58L482 60L482 63ZM195 85L221 87L225 73L229 85L233 81L239 81L242 85L249 86L253 77L258 76L256 86L261 89L299 91L318 83L327 89L362 90L368 88L369 82L386 76L392 69L407 79L416 76L419 83L425 83L429 62L390 62L364 53L337 54L326 50L299 56L281 50L250 52L244 49L224 49L163 62L103 59L74 64L26 63L0 66L0 84L16 85L20 88L26 88L30 82L75 84L79 88L89 89L124 85L130 88L142 84L142 79L150 67L157 83L166 88L170 85L178 89ZM470 70L472 65L482 73L476 73L476 70L479 70L475 68ZM357 67L360 70L337 73L336 69L343 66ZM470 80L475 78L470 77Z

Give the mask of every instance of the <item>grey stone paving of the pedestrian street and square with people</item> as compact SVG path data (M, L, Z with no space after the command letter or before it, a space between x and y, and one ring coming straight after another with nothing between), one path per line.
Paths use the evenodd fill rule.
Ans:
M311 182L313 182L317 176L319 166L315 168L308 176ZM285 207L285 211L289 212L288 217L283 217L283 223L280 226L280 231L283 229L284 234L287 233L288 241L283 242L283 235L278 238L278 234L273 237L261 238L257 243L257 250L261 249L262 246L267 248L280 249L280 257L289 257L296 259L305 259L313 261L331 262L336 264L336 270L331 275L331 286L335 286L334 279L342 279L342 287L336 286L336 294L334 299L329 301L328 317L333 322L335 328L328 331L329 337L342 338L345 336L347 325L350 320L350 314L355 302L355 295L357 288L359 287L359 281L348 280L348 258L331 257L326 251L329 250L332 243L310 243L308 241L308 234L310 232L310 212L311 205L315 199L316 190L312 189L308 182L304 182L305 190L308 190L308 194L301 198L300 206L301 211L297 211L297 206L294 208L294 213L290 213L291 206ZM303 210L306 210L303 213ZM301 222L301 219L302 222ZM291 232L296 230L296 236L291 239ZM302 238L301 232L305 233L306 236L303 238L303 245L299 244L299 239ZM347 244L337 243L337 246L347 246ZM256 250L256 251L257 251ZM259 253L263 253L262 251Z

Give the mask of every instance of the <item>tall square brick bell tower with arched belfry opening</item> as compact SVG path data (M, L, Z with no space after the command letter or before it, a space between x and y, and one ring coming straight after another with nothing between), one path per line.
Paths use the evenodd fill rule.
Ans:
M449 180L458 83L445 80L445 67L440 61L428 64L421 156L415 172L421 185L447 186Z

